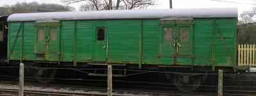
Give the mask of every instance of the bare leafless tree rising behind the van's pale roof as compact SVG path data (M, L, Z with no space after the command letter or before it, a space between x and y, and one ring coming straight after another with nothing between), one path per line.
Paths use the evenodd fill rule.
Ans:
M63 3L73 4L84 2L81 11L87 10L133 10L154 5L154 0L62 0Z

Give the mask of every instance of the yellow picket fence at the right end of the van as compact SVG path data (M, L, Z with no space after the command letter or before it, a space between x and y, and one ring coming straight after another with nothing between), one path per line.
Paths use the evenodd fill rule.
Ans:
M256 66L256 45L238 45L238 66Z

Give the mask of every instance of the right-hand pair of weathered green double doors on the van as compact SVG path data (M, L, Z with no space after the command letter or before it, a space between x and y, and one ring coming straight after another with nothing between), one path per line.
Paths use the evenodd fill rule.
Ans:
M193 28L192 20L163 20L160 61L167 65L191 65L194 59ZM165 37L165 32L171 32L170 36Z

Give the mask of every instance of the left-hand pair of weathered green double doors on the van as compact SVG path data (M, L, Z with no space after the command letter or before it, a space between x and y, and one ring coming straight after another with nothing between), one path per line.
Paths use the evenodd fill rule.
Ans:
M36 27L35 54L42 60L58 61L60 59L60 24L58 22L37 23ZM38 34L43 36L38 37Z

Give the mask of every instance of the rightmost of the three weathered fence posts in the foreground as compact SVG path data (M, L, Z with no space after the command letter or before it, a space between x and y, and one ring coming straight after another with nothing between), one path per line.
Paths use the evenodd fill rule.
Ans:
M223 71L219 70L218 74L218 96L223 96Z

